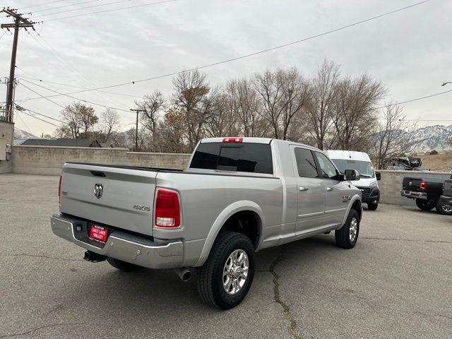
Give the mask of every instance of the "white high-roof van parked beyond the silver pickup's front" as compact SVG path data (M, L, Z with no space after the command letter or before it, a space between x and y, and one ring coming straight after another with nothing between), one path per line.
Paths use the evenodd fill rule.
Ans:
M354 150L325 150L328 157L341 173L345 169L356 169L361 179L352 182L362 191L362 202L367 203L369 210L376 210L380 201L380 188L377 180L380 180L380 173L374 171L369 155L364 152Z

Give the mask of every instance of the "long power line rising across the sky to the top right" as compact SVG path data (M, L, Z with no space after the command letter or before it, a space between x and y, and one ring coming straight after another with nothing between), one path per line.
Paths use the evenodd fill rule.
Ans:
M244 54L244 55L239 56L239 57L225 59L225 60L222 60L222 61L216 61L216 62L213 62L212 64L205 64L205 65L197 66L197 67L194 67L194 68L191 68L191 69L186 69L184 71L176 71L176 72L172 72L172 73L166 73L166 74L162 74L160 76L154 76L154 77L151 77L151 78L144 78L144 79L140 79L140 80L136 80L136 81L128 81L126 83L117 83L117 84L114 84L114 85L107 85L107 86L98 87L98 88L91 88L89 90L79 90L79 91L65 93L65 94L76 94L76 93L89 92L91 90L105 90L105 89L108 89L108 88L116 88L116 87L121 87L121 86L124 86L124 85L134 85L135 83L142 83L142 82L145 82L145 81L153 81L153 80L160 79L160 78L167 78L169 76L177 76L178 74L186 73L186 72L189 72L189 71L194 71L196 69L206 69L208 67L218 66L220 64L226 64L228 62L237 61L237 60L245 59L245 58L249 58L249 57L254 57L254 56L258 55L258 54L267 53L267 52L273 51L275 49L281 49L281 48L284 48L284 47L289 47L289 46L291 46L293 44L299 44L299 43L305 42L307 40L315 39L316 37L321 37L323 35L328 35L328 34L331 34L333 32L338 32L340 30L345 30L345 29L353 27L355 25L360 25L362 23L367 23L368 21L371 21L371 20L376 20L377 18L381 18L383 16L389 16L389 15L391 15L393 13L404 11L405 9L412 8L412 7L415 7L415 6L419 6L421 4L425 4L425 3L429 2L429 1L430 0L424 0L424 1L418 2L416 4L412 4L410 6L405 6L403 8L398 8L398 9L396 9L394 11L390 11L390 12L386 12L386 13L380 14L379 16L374 16L374 17L371 17L371 18L367 18L367 19L364 19L364 20L357 21L356 23L352 23L350 25L345 25L345 26L342 26L340 28L335 28L334 30L328 30L326 32L321 32L321 33L316 34L316 35L311 35L310 37L305 37L302 40L297 40L297 41L294 41L294 42L288 42L287 44L280 44L280 45L275 46L275 47L270 47L268 49L263 49L261 51L250 53L250 54Z

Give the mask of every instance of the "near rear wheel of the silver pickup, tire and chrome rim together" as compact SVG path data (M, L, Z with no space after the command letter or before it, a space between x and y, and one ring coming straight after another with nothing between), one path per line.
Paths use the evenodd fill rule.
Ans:
M236 232L221 232L198 270L199 295L214 307L232 309L246 297L255 267L250 239Z

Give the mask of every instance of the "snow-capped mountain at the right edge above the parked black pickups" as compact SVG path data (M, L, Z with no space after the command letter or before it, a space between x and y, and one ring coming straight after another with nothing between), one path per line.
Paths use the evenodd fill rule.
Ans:
M415 147L415 152L452 150L452 145L448 144L448 141L452 138L452 125L425 126L409 133L408 138L420 141Z

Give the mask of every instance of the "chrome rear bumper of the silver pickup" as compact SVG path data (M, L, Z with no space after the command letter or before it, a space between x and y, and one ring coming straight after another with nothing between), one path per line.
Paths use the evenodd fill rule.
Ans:
M103 248L87 244L76 239L74 222L61 215L50 219L52 232L58 237L69 240L78 246L102 256L109 256L128 263L148 268L179 268L184 259L184 243L180 240L158 243L129 233L112 231Z

